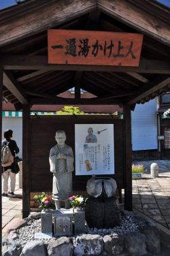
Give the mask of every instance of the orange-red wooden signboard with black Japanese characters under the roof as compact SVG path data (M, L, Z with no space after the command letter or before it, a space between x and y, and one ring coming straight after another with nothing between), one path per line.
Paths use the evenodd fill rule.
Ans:
M48 30L48 64L138 67L142 34Z

